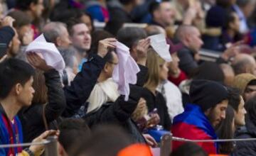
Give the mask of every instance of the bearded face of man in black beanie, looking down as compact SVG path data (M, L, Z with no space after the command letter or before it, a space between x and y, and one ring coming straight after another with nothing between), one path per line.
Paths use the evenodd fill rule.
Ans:
M218 126L220 121L225 119L225 111L228 107L228 100L223 100L219 104L217 104L214 108L210 108L209 112L206 113L208 116L210 123L215 128Z

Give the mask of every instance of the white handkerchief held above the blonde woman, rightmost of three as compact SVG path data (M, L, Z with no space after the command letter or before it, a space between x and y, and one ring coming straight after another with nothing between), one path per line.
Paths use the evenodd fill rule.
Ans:
M166 37L164 34L151 35L150 45L156 51L156 53L163 58L166 62L171 62L171 54L169 52L170 45L166 43Z

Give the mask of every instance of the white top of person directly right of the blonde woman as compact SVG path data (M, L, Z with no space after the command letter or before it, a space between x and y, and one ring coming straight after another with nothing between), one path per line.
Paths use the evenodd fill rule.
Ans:
M174 116L177 116L184 111L181 91L169 80L162 82L159 87L157 87L157 91L161 92L166 99L168 113L171 121L173 121Z

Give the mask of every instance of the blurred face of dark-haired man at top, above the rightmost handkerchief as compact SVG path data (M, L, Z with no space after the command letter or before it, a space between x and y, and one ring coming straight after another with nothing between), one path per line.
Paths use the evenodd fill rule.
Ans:
M170 26L174 23L174 9L171 8L169 1L162 2L159 9L159 18L166 26Z

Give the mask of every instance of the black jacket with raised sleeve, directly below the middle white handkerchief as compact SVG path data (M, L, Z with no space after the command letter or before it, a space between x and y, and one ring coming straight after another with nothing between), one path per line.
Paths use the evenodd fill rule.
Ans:
M85 121L90 127L102 123L122 126L131 136L132 143L145 143L142 133L131 119L141 95L141 87L131 85L130 89L129 101L124 101L124 96L119 96L114 103L104 104L99 110L88 113L85 116Z

